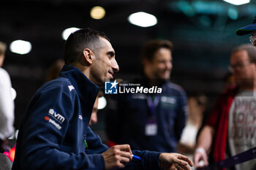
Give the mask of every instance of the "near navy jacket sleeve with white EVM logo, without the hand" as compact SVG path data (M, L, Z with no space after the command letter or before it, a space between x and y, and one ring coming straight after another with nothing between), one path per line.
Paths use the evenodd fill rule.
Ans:
M68 88L66 91L52 88L38 93L32 99L28 114L23 119L23 135L18 137L17 142L19 169L105 169L101 154L88 155L86 152L75 151L80 146L84 148L83 136L77 139L80 146L74 150L64 151L68 150L68 147L61 145L67 137L72 136L67 136L67 131L69 124L76 120L72 98L74 96L74 90L70 92ZM54 109L54 117L59 116L64 121L59 122L48 115L49 109ZM73 129L76 134L76 128Z

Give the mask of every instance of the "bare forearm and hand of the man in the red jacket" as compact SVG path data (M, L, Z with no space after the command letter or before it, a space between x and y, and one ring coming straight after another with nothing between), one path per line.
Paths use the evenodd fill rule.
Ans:
M195 167L208 165L208 152L211 150L211 144L214 138L214 128L210 125L205 125L197 139L197 149L195 150L194 161ZM203 165L200 165L200 161Z

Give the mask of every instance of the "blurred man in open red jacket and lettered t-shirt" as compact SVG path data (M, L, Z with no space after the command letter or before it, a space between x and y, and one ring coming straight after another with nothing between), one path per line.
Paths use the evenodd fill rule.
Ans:
M207 166L211 157L217 163L256 146L256 47L234 48L230 67L237 86L231 85L219 96L206 120L197 139L195 167ZM255 170L256 160L230 169Z

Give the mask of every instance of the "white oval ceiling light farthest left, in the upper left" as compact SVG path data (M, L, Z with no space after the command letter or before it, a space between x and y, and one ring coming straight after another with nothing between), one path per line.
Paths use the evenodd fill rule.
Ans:
M12 53L17 54L27 54L31 51L32 45L30 42L26 42L23 40L16 40L10 44L10 50Z

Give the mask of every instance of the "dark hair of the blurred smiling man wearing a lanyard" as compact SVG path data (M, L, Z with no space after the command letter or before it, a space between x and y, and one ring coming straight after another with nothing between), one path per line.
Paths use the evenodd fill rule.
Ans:
M154 58L155 53L160 48L167 48L170 51L173 50L173 43L164 40L164 39L152 39L143 45L143 48L141 50L140 59L143 61L143 59L147 59L148 61L152 61Z

